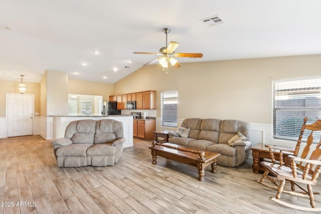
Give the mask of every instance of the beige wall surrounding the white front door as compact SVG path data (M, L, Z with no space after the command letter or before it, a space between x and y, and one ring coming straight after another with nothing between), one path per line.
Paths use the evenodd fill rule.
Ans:
M6 117L6 94L20 94L18 85L21 81L0 80L0 117ZM25 82L25 94L35 96L35 112L40 112L40 84Z

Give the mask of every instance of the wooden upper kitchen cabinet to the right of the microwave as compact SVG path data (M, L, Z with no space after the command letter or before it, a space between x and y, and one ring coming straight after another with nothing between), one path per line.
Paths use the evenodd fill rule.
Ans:
M155 109L156 92L144 91L136 93L136 109Z

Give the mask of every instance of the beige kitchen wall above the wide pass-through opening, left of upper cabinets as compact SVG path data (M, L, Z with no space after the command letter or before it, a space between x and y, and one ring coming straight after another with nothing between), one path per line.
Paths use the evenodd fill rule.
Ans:
M109 96L113 94L113 91L113 84L75 79L69 79L68 81L69 94L99 95L103 96L103 101L108 101Z

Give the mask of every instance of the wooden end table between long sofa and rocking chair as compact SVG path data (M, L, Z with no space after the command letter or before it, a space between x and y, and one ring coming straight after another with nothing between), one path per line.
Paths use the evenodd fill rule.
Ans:
M293 148L285 147L285 146L277 146L277 147L294 150L294 147ZM261 166L260 162L264 161L264 158L271 159L269 149L265 147L263 143L257 143L253 147L251 147L251 150L252 150L252 156L253 156L253 165L252 165L253 172L254 173L259 173L260 171L264 172L265 169ZM290 166L291 162L287 156L293 155L293 153L286 152L286 151L282 151L282 152L283 152L284 165ZM274 154L275 160L279 160L280 152L275 150L273 151L273 154Z

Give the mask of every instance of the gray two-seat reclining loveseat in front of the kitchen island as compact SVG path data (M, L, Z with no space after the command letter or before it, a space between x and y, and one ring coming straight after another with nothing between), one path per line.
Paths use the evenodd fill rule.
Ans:
M68 124L64 138L51 144L58 166L107 166L120 158L123 135L122 122L117 120L77 120Z

